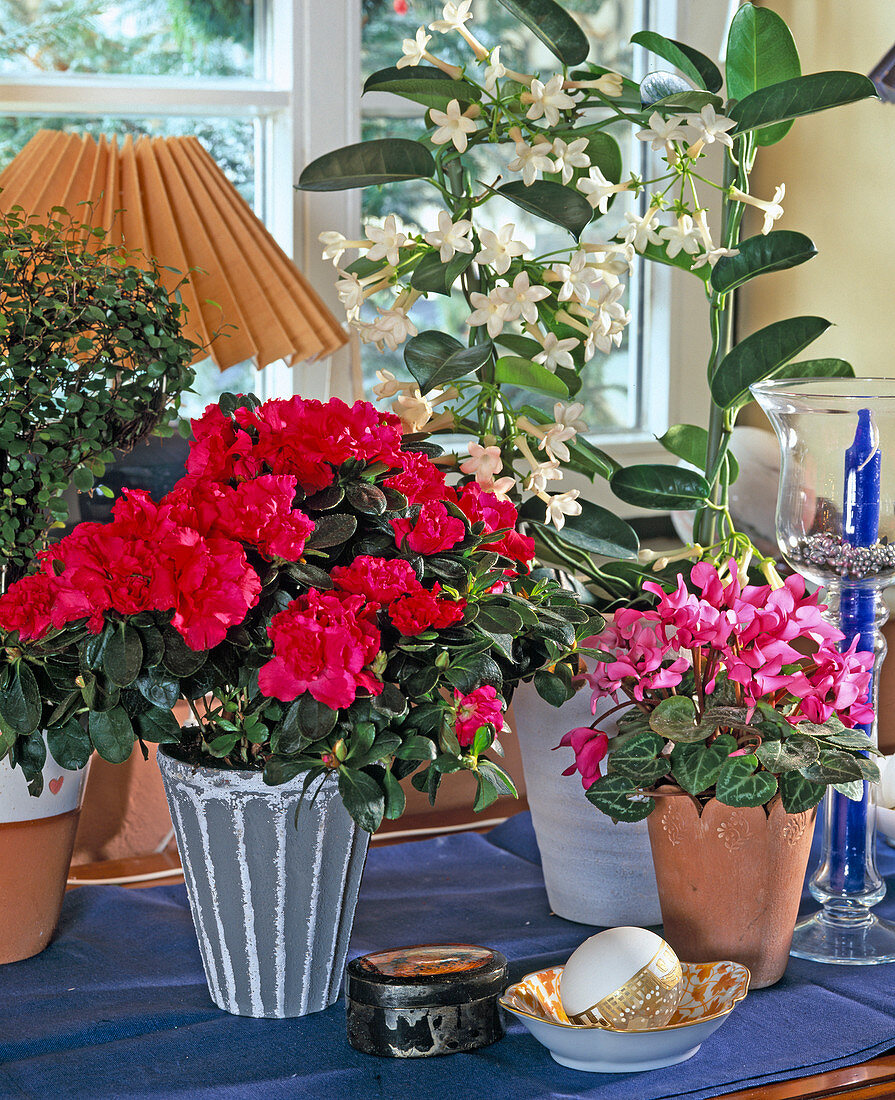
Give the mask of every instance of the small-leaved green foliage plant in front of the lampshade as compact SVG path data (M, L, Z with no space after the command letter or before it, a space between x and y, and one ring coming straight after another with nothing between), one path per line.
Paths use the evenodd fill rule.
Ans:
M64 210L0 217L0 591L113 450L170 433L198 351L154 263Z

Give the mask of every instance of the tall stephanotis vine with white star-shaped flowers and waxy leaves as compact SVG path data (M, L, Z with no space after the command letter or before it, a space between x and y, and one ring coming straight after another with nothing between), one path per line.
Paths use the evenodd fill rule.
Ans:
M440 19L404 41L395 67L365 85L420 103L424 135L336 150L308 165L298 185L417 179L440 207L431 224L404 224L389 213L357 240L321 234L350 327L379 349L404 348L409 377L382 370L376 394L411 431L472 436L468 457L457 455L462 469L488 492L522 501L539 557L582 578L606 606L638 598L655 562L639 557L627 522L568 486L570 473L606 479L638 508L695 510L690 558L723 565L732 557L740 575L751 565L777 584L772 562L728 508L737 416L749 385L762 378L852 371L841 360L794 362L828 327L822 318L775 321L737 343L733 292L816 252L803 233L777 228L784 185L755 195L750 174L758 150L780 141L794 118L875 96L873 85L854 73L803 76L783 20L751 3L732 21L723 73L689 45L636 34L637 46L677 70L652 72L639 84L585 64L588 41L561 2L505 7L542 40L555 67L520 70L487 26L478 28L472 0L445 3ZM465 64L440 57L446 36L462 40ZM623 167L620 128L648 147L634 170ZM480 167L484 148L488 164L499 165L496 175ZM623 218L612 211L600 231L620 197ZM489 218L495 200L561 227L568 246L535 253L516 220ZM753 235L743 232L748 216ZM623 468L588 440L575 398L584 372L599 371L626 339L625 280L644 260L704 287L709 408L707 428L678 424L663 435L667 463ZM465 299L466 331L418 331L420 297L451 293ZM530 404L518 404L520 392L532 395Z

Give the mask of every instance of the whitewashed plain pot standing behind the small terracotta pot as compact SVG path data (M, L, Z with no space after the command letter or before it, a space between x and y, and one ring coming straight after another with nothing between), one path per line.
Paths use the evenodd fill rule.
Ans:
M520 684L512 710L553 912L606 927L661 924L647 822L614 824L587 801L581 777L563 776L572 750L553 751L563 734L593 722L587 685L555 707Z

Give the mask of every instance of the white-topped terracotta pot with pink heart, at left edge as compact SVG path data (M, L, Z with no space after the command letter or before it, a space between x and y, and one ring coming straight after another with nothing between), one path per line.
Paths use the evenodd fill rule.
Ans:
M0 963L37 955L56 931L87 771L47 754L35 799L22 769L0 760Z

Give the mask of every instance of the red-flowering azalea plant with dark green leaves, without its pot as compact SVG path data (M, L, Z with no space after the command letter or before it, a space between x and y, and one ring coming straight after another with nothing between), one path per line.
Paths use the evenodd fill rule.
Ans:
M513 505L364 402L226 396L194 432L167 496L125 491L0 597L0 747L32 789L46 730L67 768L136 739L269 783L335 770L371 831L411 772L513 792L485 756L512 690L571 693L596 625L531 575Z

